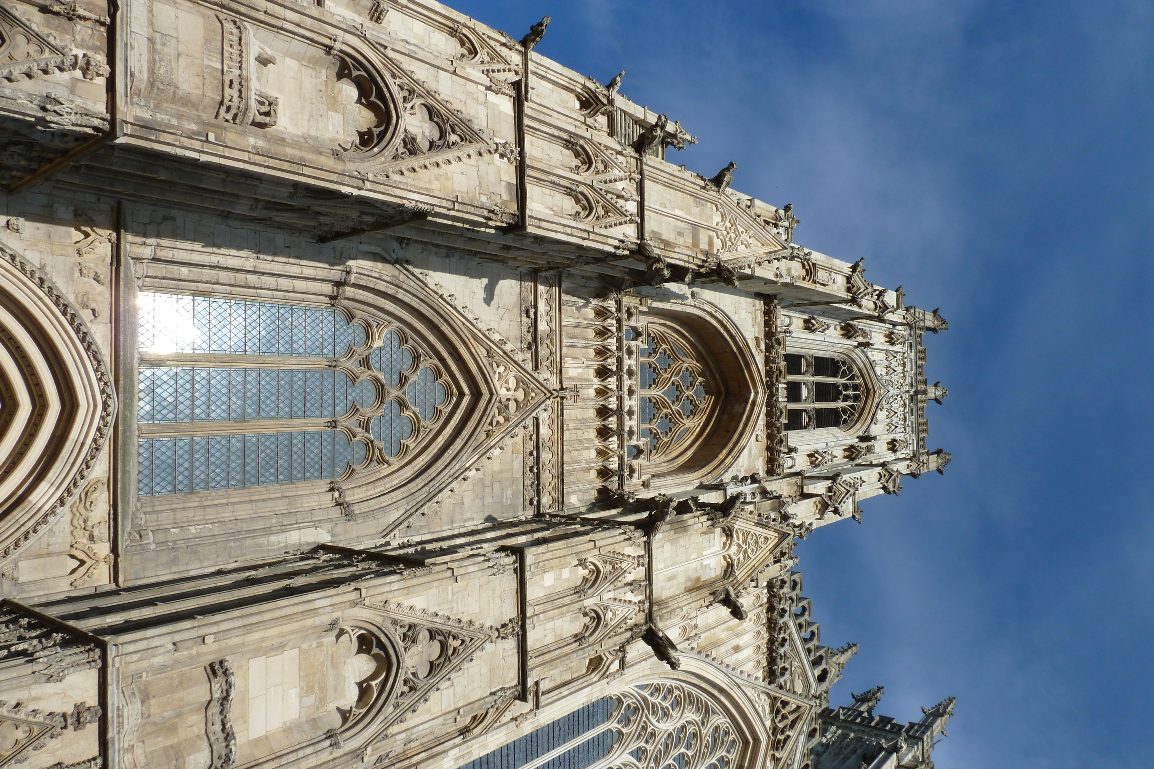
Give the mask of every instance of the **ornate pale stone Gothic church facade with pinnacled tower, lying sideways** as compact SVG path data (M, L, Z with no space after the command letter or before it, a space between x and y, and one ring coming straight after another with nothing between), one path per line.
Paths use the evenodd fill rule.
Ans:
M0 2L0 768L930 766L792 550L937 310L547 17Z

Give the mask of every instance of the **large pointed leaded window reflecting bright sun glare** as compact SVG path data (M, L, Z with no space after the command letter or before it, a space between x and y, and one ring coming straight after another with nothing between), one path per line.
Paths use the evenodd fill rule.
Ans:
M345 477L400 461L449 408L400 325L342 310L142 293L142 497Z

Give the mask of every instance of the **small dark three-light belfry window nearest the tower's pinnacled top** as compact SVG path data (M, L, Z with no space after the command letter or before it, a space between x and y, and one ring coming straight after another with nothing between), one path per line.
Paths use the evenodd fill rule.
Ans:
M845 357L787 353L786 430L848 430L862 407L862 383Z

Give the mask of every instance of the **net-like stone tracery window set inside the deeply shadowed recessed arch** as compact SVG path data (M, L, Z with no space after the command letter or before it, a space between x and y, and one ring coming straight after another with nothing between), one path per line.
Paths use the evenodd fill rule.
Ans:
M683 448L705 423L713 397L689 340L651 323L639 350L640 437L644 459L660 460Z

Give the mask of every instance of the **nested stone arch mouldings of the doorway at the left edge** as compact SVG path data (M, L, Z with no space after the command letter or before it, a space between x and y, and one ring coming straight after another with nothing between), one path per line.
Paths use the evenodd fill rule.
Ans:
M0 398L6 401L0 559L6 559L83 485L108 438L117 397L104 355L76 308L2 244L0 300Z

